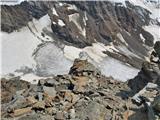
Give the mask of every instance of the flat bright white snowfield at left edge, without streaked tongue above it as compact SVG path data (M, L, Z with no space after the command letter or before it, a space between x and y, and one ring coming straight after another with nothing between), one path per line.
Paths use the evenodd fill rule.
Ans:
M24 37L25 35L25 37ZM2 71L1 74L14 72L21 66L33 67L35 61L32 53L36 49L40 41L28 30L23 28L20 32L12 32L10 34L0 32Z

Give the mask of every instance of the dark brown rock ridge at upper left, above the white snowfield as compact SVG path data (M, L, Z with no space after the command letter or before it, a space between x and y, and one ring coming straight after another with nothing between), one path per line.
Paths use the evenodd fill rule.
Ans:
M15 6L1 6L1 30L13 32L24 26L33 18L39 19L47 14L47 2L22 2Z

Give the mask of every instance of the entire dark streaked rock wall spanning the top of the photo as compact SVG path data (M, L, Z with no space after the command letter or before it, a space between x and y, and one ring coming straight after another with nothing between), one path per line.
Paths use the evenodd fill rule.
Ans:
M75 5L75 9L67 9L68 5ZM153 36L142 28L150 21L149 11L133 6L126 2L124 7L120 4L110 2L63 2L63 6L59 6L58 2L22 2L16 6L2 6L2 31L12 32L23 26L33 18L39 19L49 14L52 22L57 23L61 19L65 26L52 24L53 34L64 42L77 47L85 47L91 45L95 41L108 44L122 44L117 38L117 33L121 33L126 42L131 45L130 49L141 54L146 54L146 50L139 44L141 42L139 33L141 32L146 38L146 44L153 45ZM66 4L66 5L65 5ZM52 14L52 8L55 7L57 15ZM77 21L79 28L75 22L70 20L71 15L78 14ZM81 29L81 30L80 30ZM81 32L85 31L85 35ZM127 33L131 34L128 35Z

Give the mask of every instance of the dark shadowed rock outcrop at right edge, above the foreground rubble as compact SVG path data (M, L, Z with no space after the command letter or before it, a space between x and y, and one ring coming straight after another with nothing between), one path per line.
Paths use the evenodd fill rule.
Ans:
M149 82L160 85L159 43L159 41L155 43L154 51L150 57L150 62L144 62L138 75L134 79L128 81L128 85L135 92L141 90Z

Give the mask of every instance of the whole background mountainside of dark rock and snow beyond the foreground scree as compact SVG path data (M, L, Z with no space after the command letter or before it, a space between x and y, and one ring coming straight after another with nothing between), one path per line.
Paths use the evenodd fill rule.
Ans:
M1 6L3 74L21 69L21 66L31 68L40 76L62 74L81 56L106 76L123 81L133 78L154 41L159 40L152 27L159 30L159 22L152 16L149 4L140 0L121 2L32 1ZM28 33L28 37L20 37L24 33ZM11 44L21 50L19 54L9 47ZM25 60L32 62L27 64ZM15 67L8 70L13 64Z

